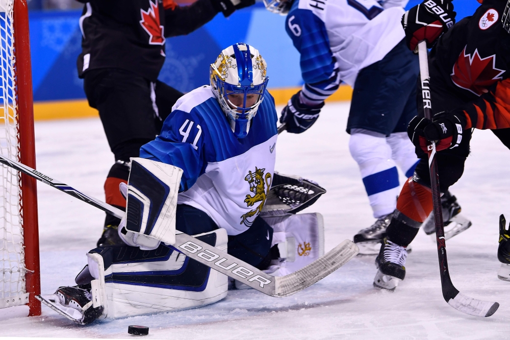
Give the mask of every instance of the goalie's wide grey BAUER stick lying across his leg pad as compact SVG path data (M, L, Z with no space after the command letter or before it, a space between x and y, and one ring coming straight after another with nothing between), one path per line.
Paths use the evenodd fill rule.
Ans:
M124 211L107 203L96 200L73 187L46 176L37 170L7 159L0 155L0 163L10 166L23 174L53 186L74 198L84 201L115 217L122 218ZM350 240L345 240L334 249L327 252L314 262L300 270L285 276L272 276L254 266L224 253L214 246L208 245L188 234L177 232L173 248L200 263L207 265L222 274L230 276L242 283L259 290L269 296L289 296L314 284L327 275L333 273L351 258L358 254L358 247Z

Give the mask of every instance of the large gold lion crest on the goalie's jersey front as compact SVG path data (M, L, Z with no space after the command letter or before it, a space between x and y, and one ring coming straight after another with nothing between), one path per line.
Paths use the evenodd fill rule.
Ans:
M255 172L252 173L251 170L248 175L244 178L245 181L247 181L250 185L250 191L253 192L253 196L246 195L246 199L244 199L244 203L248 207L254 206L256 203L260 202L257 208L248 211L247 213L243 214L241 216L241 224L244 224L248 227L250 227L253 224L253 221L255 218L252 218L253 216L257 217L257 215L262 211L264 208L264 203L266 202L266 186L267 190L271 188L271 174L266 174L264 176L264 172L266 169L259 169L257 166L255 167Z

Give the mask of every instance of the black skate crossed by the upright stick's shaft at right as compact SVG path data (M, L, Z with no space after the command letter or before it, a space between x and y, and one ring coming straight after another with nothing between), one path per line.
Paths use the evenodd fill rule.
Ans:
M445 239L452 238L471 227L471 221L460 214L461 206L457 203L456 197L452 196L449 191L446 191L441 197L441 206L443 210ZM433 211L423 222L423 231L425 234L431 235L432 240L436 242L436 224L434 222Z

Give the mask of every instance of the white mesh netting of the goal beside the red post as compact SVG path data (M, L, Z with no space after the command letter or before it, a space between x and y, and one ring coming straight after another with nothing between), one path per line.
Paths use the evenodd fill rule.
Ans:
M0 153L19 161L13 46L13 0L0 0ZM0 308L25 303L20 177L0 165Z

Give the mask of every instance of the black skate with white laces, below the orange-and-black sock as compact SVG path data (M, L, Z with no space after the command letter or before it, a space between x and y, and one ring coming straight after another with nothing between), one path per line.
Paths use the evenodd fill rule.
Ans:
M393 290L398 282L405 277L405 259L407 258L406 247L394 244L388 238L382 239L379 255L375 258L377 274L374 278L374 286Z

